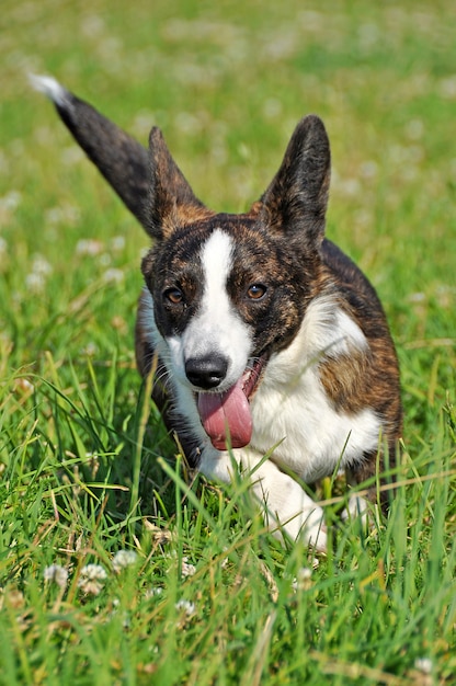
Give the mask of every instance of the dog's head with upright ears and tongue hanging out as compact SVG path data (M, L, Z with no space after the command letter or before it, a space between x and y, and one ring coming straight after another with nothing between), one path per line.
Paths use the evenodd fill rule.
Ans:
M242 215L215 214L193 194L159 129L150 135L142 262L151 325L173 378L197 396L215 447L251 437L249 399L285 348L321 279L330 150L321 121L297 126L271 185Z

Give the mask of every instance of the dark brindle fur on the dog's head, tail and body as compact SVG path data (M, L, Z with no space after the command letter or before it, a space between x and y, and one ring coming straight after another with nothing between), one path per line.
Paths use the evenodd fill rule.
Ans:
M381 438L392 466L402 419L397 356L374 288L354 263L324 238L330 149L318 117L308 116L298 124L277 174L249 213L215 214L194 196L158 128L150 134L147 152L90 105L67 91L62 93L55 99L61 118L155 241L144 259L142 273L161 334L179 332L192 317L192 293L201 287L201 275L197 266L189 265L187 256L216 228L221 228L236 237L232 274L239 274L240 281L233 276L227 289L244 321L254 320L256 324L256 355L285 350L296 335L309 302L320 295L334 297L361 328L368 342L367 351L354 348L338 356L332 356L331 350L322 351L316 364L335 410L355 414L369 408L381 416ZM259 262L259 255L263 262ZM241 268L237 268L237 261ZM266 299L252 309L238 294L252 279L261 281L262 273L277 298L274 302ZM185 312L163 304L163 288L176 282L190 294ZM136 357L142 376L148 374L155 358L145 324L146 310L141 295ZM179 434L180 420L170 411L172 399L160 380L166 370L166 361L158 359L158 380L152 395L167 426ZM179 437L191 466L197 467L197 443L185 433ZM379 456L371 451L364 455L364 460L351 465L350 478L361 482L373 477L378 462L381 470L381 449Z

